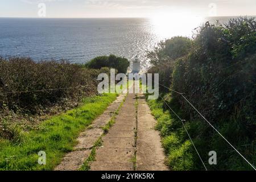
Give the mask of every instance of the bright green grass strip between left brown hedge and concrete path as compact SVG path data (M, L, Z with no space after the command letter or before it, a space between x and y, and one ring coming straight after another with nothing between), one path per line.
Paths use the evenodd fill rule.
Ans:
M73 150L76 138L117 94L85 98L77 109L42 122L37 130L16 129L17 140L0 140L0 170L52 170L64 154ZM38 152L46 152L46 165L38 164Z

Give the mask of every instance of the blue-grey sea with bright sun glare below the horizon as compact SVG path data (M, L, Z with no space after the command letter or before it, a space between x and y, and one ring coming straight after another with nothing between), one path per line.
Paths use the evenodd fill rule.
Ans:
M225 23L229 18L0 18L0 55L85 63L113 53L129 60L138 55L146 65L146 52L160 40L191 37L193 28L207 20Z

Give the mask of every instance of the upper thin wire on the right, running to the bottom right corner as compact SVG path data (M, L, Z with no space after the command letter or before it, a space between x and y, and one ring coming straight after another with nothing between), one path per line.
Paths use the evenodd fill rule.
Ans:
M158 83L159 84L159 83ZM162 85L162 84L159 84L159 85ZM188 103L189 103L189 105L191 105L192 107L193 107L193 109L195 109L196 111L197 111L197 113L199 113L200 115L201 115L201 117L203 117L204 118L204 120L205 121L207 121L207 123L256 171L256 168L253 166L253 164L251 164L197 109L196 109L196 107L195 106L193 106L192 104L191 104L191 102L189 102L188 100L187 100L187 98L185 98L184 96L183 96L183 93L180 93L180 92L177 92L176 90L172 90L172 89L170 89L170 88L168 88L167 86L164 86L164 85L162 85L164 88L167 88L167 89L169 89L169 90L171 90L171 91L173 91L173 92L175 92L175 93L178 93L178 94L180 94L184 99L185 99L185 101L187 101Z

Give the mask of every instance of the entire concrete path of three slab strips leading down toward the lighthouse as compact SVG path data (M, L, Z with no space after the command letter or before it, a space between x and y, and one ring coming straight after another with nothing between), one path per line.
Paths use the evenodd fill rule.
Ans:
M125 98L121 94L104 114L100 115L80 134L75 150L65 155L56 170L77 170L90 155L94 143L102 136L102 127L112 118ZM127 94L108 134L102 137L102 146L96 148L96 160L90 163L92 171L162 171L164 152L156 121L151 115L143 94Z

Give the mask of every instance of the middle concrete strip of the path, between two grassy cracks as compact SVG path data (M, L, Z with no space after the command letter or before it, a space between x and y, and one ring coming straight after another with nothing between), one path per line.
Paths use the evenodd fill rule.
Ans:
M127 94L126 101L115 119L115 124L106 134L103 146L96 150L96 161L90 166L92 171L134 170L135 132L137 111L135 94Z

